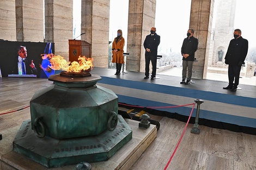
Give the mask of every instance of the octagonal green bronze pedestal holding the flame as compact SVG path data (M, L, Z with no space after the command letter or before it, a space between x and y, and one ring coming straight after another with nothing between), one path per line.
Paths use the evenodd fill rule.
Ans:
M51 75L54 84L31 99L13 150L46 167L106 161L132 138L118 113L118 97L95 85L101 77Z

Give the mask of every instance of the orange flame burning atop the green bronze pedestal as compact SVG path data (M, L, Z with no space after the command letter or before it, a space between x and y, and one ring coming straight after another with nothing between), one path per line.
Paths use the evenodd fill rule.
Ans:
M42 59L46 59L51 62L51 66L48 66L52 68L53 70L63 70L66 72L82 72L89 69L93 69L93 58L87 58L86 56L79 56L78 62L73 61L68 62L66 61L62 56L54 54L42 54Z

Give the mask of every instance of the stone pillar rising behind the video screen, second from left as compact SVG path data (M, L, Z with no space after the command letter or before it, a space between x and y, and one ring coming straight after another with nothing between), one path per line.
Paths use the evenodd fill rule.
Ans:
M16 0L17 41L44 42L43 0Z

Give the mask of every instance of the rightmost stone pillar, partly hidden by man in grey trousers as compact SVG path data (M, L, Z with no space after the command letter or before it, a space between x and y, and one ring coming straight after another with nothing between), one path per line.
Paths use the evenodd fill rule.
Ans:
M194 37L197 37L199 42L195 54L198 62L193 64L192 78L206 78L213 8L214 0L191 1L190 28L194 29Z

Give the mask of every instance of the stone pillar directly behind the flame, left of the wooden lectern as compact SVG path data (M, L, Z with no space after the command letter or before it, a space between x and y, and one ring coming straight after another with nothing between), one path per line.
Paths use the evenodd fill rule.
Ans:
M45 41L54 42L54 54L69 60L69 39L73 39L73 2L45 0Z

